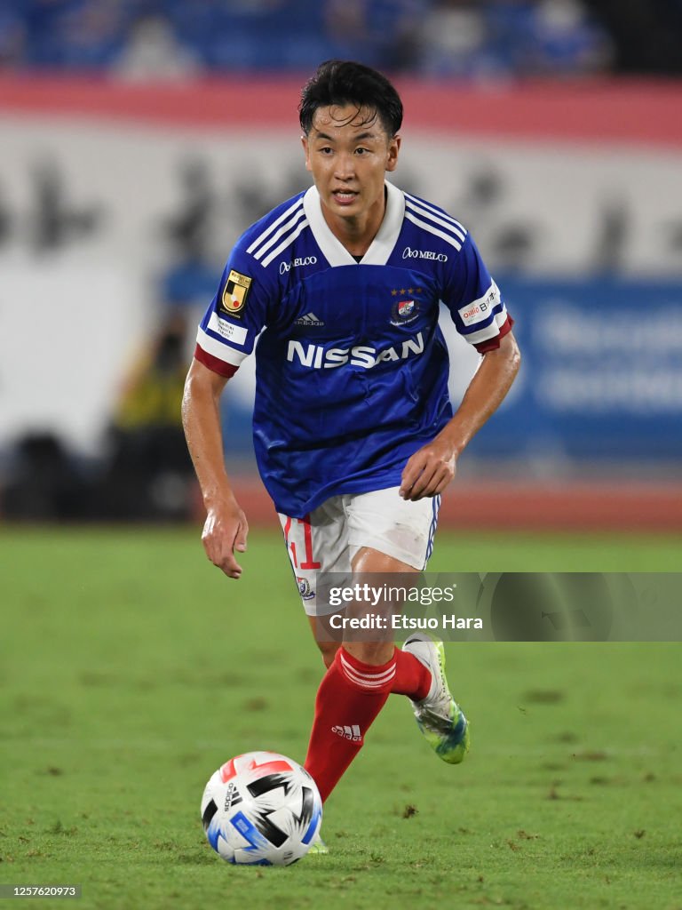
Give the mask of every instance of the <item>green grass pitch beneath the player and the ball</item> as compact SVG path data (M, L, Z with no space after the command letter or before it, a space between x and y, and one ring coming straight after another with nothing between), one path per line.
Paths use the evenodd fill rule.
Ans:
M680 551L441 533L429 568L678 571ZM221 862L206 779L251 749L302 760L322 673L280 538L254 532L244 565L227 581L196 529L0 532L0 884L126 910L682 908L677 643L446 645L466 763L393 697L327 804L329 856Z

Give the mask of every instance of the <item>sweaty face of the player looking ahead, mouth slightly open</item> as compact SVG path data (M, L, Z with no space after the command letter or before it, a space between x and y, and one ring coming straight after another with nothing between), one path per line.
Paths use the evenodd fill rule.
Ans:
M319 107L303 137L327 220L376 221L384 217L384 176L396 169L400 137L388 136L376 112L354 105ZM378 220L376 220L378 219Z

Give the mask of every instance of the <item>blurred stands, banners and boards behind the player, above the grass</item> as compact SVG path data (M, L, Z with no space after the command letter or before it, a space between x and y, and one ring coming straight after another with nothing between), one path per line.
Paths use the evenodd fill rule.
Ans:
M184 368L231 243L307 185L297 94L342 54L395 73L396 182L472 230L517 319L522 373L443 521L682 526L682 91L660 27L680 10L659 4L654 23L648 6L616 26L611 5L576 0L5 5L5 515L196 514L177 415L135 390L137 368L169 331ZM443 325L456 399L475 356ZM247 364L224 406L229 460L252 521L271 521L252 395Z

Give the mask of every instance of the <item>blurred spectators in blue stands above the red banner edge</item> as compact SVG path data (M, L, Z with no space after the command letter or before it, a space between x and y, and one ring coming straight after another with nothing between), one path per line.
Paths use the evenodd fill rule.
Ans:
M682 0L3 0L0 69L127 79L306 71L682 72Z

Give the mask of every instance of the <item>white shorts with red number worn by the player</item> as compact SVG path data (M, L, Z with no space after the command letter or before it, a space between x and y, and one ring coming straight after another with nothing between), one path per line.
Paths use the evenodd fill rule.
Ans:
M350 574L358 550L371 547L422 571L433 551L440 496L404 500L398 487L332 496L306 518L279 514L304 609L316 609L316 573ZM330 611L333 612L333 611Z

